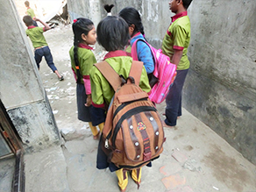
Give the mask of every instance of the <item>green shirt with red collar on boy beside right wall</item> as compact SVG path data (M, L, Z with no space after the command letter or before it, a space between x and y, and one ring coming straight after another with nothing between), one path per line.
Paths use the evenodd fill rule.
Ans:
M190 21L187 11L181 12L172 17L173 23L169 26L162 42L162 52L172 59L174 50L182 50L181 61L177 70L189 68L188 46L190 41Z

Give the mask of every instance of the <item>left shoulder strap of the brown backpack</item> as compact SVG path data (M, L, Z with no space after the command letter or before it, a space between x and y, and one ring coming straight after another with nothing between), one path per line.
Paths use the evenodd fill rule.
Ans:
M94 65L102 73L106 80L110 82L112 88L117 91L117 88L121 85L121 78L119 77L117 72L113 68L111 68L110 64L104 60Z

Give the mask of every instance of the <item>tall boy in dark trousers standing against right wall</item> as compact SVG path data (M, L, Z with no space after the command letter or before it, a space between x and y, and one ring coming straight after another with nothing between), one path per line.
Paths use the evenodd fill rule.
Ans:
M190 40L190 21L187 9L192 0L171 0L169 7L175 16L162 42L162 52L177 65L177 75L166 98L165 126L175 126L177 117L181 116L181 92L188 74L189 60L187 56Z

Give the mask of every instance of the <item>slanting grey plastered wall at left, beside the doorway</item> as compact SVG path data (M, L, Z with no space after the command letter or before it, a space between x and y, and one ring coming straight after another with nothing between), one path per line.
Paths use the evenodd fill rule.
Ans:
M14 2L1 0L0 11L0 98L25 150L39 151L60 134Z

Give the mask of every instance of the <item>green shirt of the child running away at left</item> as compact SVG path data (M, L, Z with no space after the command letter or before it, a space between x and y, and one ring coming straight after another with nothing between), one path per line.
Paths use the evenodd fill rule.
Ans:
M40 46L48 46L46 43L46 39L43 35L44 27L37 26L29 26L27 30L25 30L26 35L31 39L32 46L34 48Z

